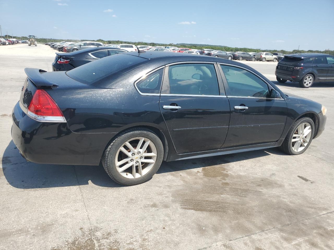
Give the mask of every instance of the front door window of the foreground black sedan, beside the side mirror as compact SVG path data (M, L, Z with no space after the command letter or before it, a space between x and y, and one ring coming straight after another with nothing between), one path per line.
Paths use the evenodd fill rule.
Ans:
M268 97L267 83L251 72L237 67L220 65L227 80L231 96Z

